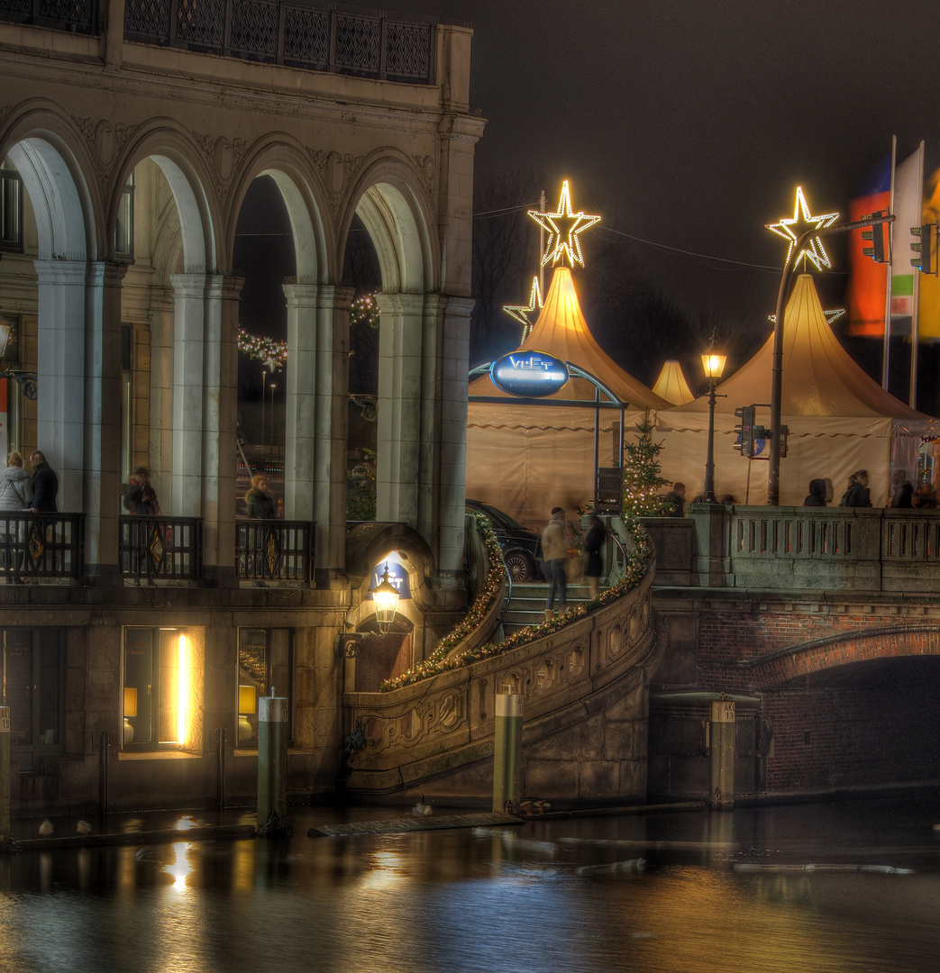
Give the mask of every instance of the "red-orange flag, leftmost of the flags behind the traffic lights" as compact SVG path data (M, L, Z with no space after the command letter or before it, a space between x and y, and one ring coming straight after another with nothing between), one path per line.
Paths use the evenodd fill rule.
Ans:
M886 212L891 202L891 164L893 153L869 176L863 195L849 203L850 221L879 211ZM875 232L881 227L873 228ZM870 246L862 239L860 230L849 234L849 263L851 276L846 290L849 323L846 332L860 338L883 338L887 304L887 265L876 264L862 250Z

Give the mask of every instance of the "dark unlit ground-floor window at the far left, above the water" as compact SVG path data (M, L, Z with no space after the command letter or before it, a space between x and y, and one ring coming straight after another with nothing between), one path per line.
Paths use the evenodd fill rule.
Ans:
M19 769L61 752L64 666L59 629L0 629L10 706L10 746Z

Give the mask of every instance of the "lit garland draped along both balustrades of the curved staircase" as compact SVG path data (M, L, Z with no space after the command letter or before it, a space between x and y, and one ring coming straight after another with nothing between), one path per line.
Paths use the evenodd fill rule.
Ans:
M612 588L597 595L591 601L583 604L572 605L566 611L556 615L550 622L542 622L539 625L529 626L527 629L513 632L508 638L504 638L498 644L488 642L475 649L467 649L465 652L451 654L460 642L470 635L480 626L486 617L492 599L499 594L499 587L502 583L503 561L499 542L492 531L488 520L481 514L473 515L477 522L477 530L481 533L489 554L489 573L487 584L484 591L473 603L473 607L467 613L466 618L446 635L434 650L422 663L403 672L396 679L388 679L380 685L380 692L386 693L393 689L401 689L403 686L410 686L420 682L430 676L439 675L450 669L471 666L473 663L492 656L501 655L510 649L517 649L521 645L527 645L544 635L563 629L569 622L574 622L579 618L584 618L601 605L610 604L618 598L626 595L633 587L643 580L653 557L653 542L649 532L626 508L623 513L623 522L627 531L633 538L633 552L627 559L624 576Z

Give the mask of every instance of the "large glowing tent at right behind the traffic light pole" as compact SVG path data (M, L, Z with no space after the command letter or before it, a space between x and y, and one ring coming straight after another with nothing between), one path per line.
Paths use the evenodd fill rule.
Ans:
M735 410L756 404L757 423L770 425L771 335L733 376L718 386L715 407L715 494L739 503L765 503L769 464L748 462L734 449L740 424ZM922 438L940 435L940 421L918 413L853 361L837 341L822 313L813 277L797 277L783 317L782 422L789 427L786 458L780 460L780 503L800 505L816 478L832 480L842 494L852 472L869 471L872 503L889 495L890 471L903 468L914 479ZM694 496L705 477L708 401L661 411L657 441L663 476L686 485ZM761 455L767 455L764 444Z

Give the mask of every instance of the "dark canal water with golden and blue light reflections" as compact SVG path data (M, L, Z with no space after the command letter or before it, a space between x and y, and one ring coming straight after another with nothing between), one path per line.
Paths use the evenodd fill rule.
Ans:
M338 812L292 813L280 841L0 855L0 973L940 968L934 791L330 838Z

